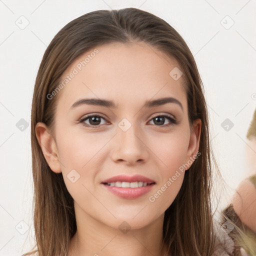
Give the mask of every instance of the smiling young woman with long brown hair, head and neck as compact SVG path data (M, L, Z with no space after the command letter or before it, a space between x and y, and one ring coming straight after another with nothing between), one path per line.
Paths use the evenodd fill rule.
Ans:
M219 255L202 82L159 17L97 10L54 36L31 147L37 255Z

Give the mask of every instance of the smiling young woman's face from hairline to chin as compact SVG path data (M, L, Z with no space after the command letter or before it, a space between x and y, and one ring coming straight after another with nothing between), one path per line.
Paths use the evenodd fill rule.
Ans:
M162 218L176 197L188 168L182 164L190 166L198 150L200 122L197 133L190 131L177 69L181 68L174 58L167 61L142 42L96 49L77 58L62 75L61 81L69 78L57 95L54 132L59 162L48 163L62 172L76 215L114 228L123 221L140 228ZM167 97L167 103L144 106ZM91 98L87 104L75 103ZM100 100L115 107L96 104ZM117 187L141 185L140 177L131 184L102 183L116 175L142 175L154 183Z

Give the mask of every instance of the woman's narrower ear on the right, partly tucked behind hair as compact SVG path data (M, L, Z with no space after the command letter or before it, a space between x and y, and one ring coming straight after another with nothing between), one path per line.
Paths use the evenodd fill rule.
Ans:
M190 131L190 139L186 153L186 165L188 165L189 167L187 167L186 169L190 168L196 157L196 153L199 149L200 134L201 119L198 118L193 121L193 125Z

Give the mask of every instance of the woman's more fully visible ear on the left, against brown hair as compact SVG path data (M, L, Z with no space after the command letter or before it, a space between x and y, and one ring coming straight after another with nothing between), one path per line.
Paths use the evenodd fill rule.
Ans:
M61 168L56 143L48 127L43 122L37 122L35 125L35 134L50 169L56 173L60 173Z

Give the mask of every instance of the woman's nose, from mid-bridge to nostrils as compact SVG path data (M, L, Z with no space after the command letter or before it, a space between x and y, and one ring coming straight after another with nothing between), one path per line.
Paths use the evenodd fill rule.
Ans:
M113 138L111 158L115 162L125 162L128 165L143 163L148 160L149 152L145 136L135 131L133 126L126 131L119 129Z

